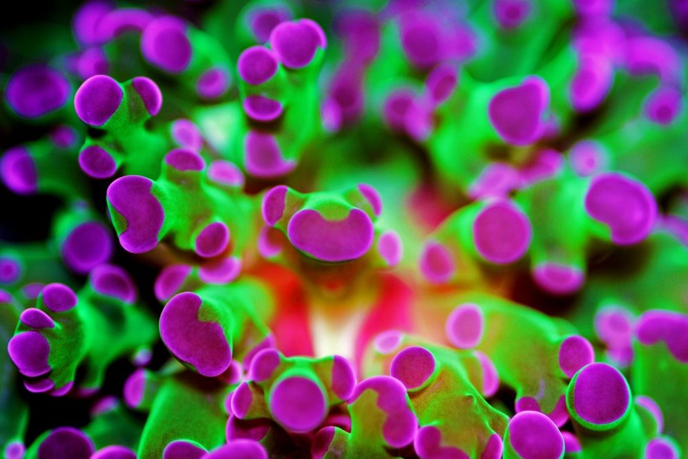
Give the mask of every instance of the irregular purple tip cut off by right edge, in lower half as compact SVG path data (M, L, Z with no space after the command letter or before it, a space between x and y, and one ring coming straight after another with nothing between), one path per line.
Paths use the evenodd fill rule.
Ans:
M688 363L688 315L664 310L647 311L638 319L636 334L644 345L664 341L676 360Z

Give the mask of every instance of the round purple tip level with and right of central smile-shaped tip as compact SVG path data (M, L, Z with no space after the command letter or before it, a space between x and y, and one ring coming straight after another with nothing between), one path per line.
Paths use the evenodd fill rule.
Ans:
M506 201L488 204L473 222L477 253L494 264L517 261L525 255L532 237L528 217Z

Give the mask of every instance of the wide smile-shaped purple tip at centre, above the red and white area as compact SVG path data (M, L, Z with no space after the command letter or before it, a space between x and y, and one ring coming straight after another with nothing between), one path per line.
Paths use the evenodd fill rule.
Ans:
M312 209L303 209L289 221L287 233L294 247L321 261L347 261L370 248L374 229L367 213L352 209L343 220L326 220Z

